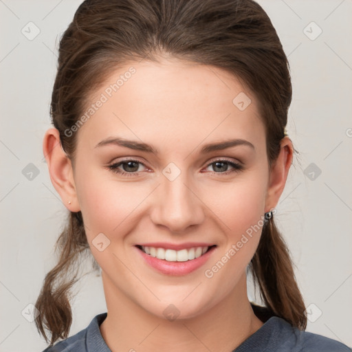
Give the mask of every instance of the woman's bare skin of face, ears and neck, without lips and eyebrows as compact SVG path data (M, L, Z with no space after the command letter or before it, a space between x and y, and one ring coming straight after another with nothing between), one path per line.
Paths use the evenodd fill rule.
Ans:
M222 69L171 58L116 70L91 102L131 65L135 74L76 132L74 163L56 148L56 129L43 140L52 184L67 209L82 212L91 252L102 269L108 316L100 331L111 351L232 351L263 325L246 286L261 230L212 278L204 272L275 208L292 164L292 142L281 141L269 170L254 94ZM232 103L240 92L252 100L244 111ZM95 148L110 136L152 144L159 154L117 145ZM233 138L248 140L255 150L239 145L199 153L203 144ZM119 169L139 175L107 168L128 157L142 164ZM221 158L242 164L243 170L211 164ZM181 172L173 181L162 173L170 162ZM234 172L223 175L227 170ZM100 233L110 241L102 252L92 244ZM205 241L217 248L195 272L170 276L136 254L136 244L152 241ZM172 321L163 314L170 304L179 311Z

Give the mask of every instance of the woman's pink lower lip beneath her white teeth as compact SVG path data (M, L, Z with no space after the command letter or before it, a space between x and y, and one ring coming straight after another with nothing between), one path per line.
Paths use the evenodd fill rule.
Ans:
M166 261L164 259L157 259L153 256L150 256L149 254L144 253L142 250L140 250L140 248L135 248L138 252L140 252L148 265L151 265L151 267L154 269L162 272L162 274L181 276L189 274L190 272L194 272L199 267L201 267L201 265L206 263L216 247L210 248L208 252L204 253L196 259L192 259L191 261Z

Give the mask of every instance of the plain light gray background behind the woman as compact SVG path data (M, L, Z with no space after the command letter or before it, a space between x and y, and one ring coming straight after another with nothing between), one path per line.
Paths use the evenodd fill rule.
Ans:
M23 315L56 262L54 243L67 213L51 184L42 140L50 128L58 40L80 2L0 0L0 351L46 347ZM294 98L288 132L300 151L276 221L309 306L307 331L352 346L352 1L259 3L289 57ZM29 32L30 21L40 29L33 40L21 33ZM312 21L322 29L315 40L319 29ZM39 169L32 180L23 175L30 163ZM70 335L106 311L100 277L85 276L77 289Z

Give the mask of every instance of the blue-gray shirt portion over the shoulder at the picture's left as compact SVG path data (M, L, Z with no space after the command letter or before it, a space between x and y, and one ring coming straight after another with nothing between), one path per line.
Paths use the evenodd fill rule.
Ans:
M107 313L98 314L91 320L88 327L65 340L56 342L54 346L47 347L43 352L87 352L91 351L89 347L94 350L96 343L99 343L100 346L104 345L99 326L106 317ZM106 345L103 347L105 349L101 349L101 351L108 351Z

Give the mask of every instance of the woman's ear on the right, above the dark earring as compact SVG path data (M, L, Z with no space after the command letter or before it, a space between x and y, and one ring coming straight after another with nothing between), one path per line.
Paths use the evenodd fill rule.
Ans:
M265 212L275 208L280 199L283 189L285 188L289 168L292 165L294 148L289 137L281 140L281 150L276 162L272 165L269 184L267 188L267 197L265 200Z

